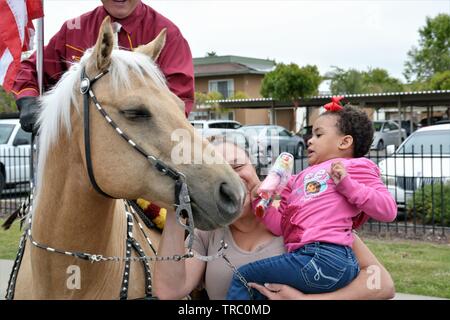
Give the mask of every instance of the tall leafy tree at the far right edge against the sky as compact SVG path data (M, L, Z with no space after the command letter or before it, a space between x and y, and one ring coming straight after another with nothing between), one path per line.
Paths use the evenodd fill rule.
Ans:
M450 15L427 17L419 29L419 45L408 51L404 76L408 82L426 81L435 73L450 70Z

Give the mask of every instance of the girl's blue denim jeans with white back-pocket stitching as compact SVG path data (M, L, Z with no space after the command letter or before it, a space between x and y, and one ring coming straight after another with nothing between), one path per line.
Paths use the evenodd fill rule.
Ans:
M314 242L293 252L246 264L238 271L248 282L282 283L303 293L324 293L345 287L356 278L360 269L350 247ZM256 290L249 292L234 274L227 299L252 297L264 298Z

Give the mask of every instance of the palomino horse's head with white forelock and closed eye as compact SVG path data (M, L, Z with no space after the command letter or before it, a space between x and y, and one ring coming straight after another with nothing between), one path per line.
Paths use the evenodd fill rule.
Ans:
M188 153L193 159L195 150L202 154L213 154L214 151L187 121L184 103L169 90L155 63L164 48L165 37L163 30L155 40L134 51L119 50L114 47L110 19L105 18L95 46L42 100L39 166L44 165L46 154L56 143L58 135L55 131L66 128L71 147L80 151L84 167L80 175L87 175L89 155L84 141L85 111L80 108L84 103L80 93L81 75L85 74L91 80L102 75L91 84L91 89L108 118L132 139L133 145L185 177L195 226L214 229L229 224L240 213L244 187L224 161L193 163L175 159L177 155L173 150L179 144L173 134L180 130L189 136L189 141L185 142L191 146L184 150L184 156ZM64 97L64 93L70 98ZM148 158L125 141L97 112L92 99L88 103L91 108L90 157L98 187L114 198L145 198L162 207L172 207L176 203L174 180L161 174ZM216 154L215 159L220 156ZM43 170L39 172L42 174ZM42 181L42 177L38 177L38 181Z

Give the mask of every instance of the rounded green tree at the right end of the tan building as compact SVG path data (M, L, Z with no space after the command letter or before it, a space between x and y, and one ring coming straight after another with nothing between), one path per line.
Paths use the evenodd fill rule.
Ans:
M264 76L261 95L265 98L290 100L298 107L300 98L317 94L321 81L322 77L316 66L300 68L295 63L279 63L275 70Z

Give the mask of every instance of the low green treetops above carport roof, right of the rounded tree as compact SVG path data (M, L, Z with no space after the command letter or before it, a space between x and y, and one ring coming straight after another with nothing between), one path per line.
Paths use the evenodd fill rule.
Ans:
M358 71L333 68L334 70L325 76L331 80L330 90L333 95L403 91L401 81L391 77L385 69L369 68L367 71Z

